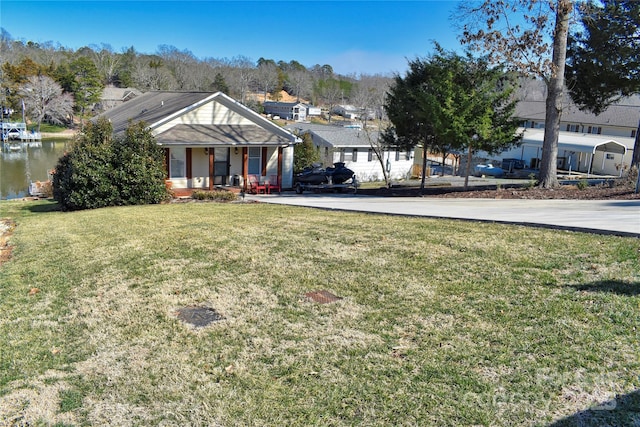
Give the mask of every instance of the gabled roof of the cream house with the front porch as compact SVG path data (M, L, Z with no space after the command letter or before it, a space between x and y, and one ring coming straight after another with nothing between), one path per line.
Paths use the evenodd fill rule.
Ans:
M211 102L238 114L245 123L192 123L192 120L189 124L176 123L176 119ZM115 134L124 132L129 122L142 121L156 130L156 140L163 145L283 145L298 142L288 130L222 92L147 92L99 117L109 119ZM171 126L168 129L167 124Z

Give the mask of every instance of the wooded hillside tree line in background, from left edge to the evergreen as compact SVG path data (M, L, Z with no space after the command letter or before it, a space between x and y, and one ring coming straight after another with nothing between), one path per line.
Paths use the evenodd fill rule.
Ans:
M340 75L329 64L306 67L298 61L245 56L198 59L189 50L161 45L154 54L134 47L116 52L109 44L78 50L53 42L14 39L1 30L0 105L14 114L23 102L37 122L69 123L73 116L91 116L107 86L142 92L222 91L260 110L260 103L279 100L282 90L314 105L332 108L356 103L382 114L391 76ZM255 94L260 94L256 97Z

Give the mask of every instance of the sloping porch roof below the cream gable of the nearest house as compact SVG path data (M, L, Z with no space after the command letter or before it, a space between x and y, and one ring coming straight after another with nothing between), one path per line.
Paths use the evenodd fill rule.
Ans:
M256 125L179 124L156 135L162 146L285 146L289 139Z

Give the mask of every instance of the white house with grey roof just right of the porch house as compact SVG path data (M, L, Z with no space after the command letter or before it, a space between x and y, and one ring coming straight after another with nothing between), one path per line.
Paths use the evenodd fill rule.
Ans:
M325 166L344 162L359 181L384 179L382 166L373 152L371 141L378 138L377 131L363 130L359 125L335 126L296 123L287 126L298 134L310 133L313 144L320 152ZM384 164L391 179L410 177L413 166L413 151L384 151Z

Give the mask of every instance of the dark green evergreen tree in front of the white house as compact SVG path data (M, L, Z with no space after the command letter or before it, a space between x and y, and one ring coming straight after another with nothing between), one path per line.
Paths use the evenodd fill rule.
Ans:
M393 126L384 138L402 149L448 147L467 150L469 157L477 150L502 151L520 141L513 87L509 76L490 68L486 59L436 46L436 54L410 61L407 74L396 76L385 104Z

